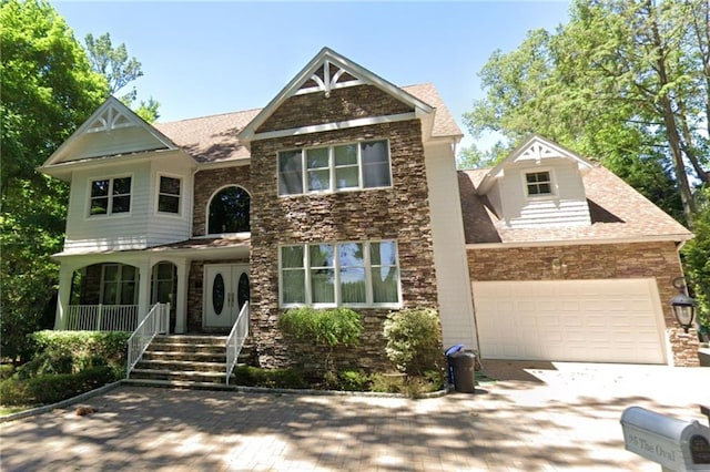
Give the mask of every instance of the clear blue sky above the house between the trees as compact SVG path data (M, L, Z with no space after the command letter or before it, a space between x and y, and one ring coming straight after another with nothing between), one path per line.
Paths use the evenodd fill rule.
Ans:
M325 45L397 85L433 82L459 126L483 96L478 71L529 30L568 20L565 1L53 1L83 42L111 33L142 63L159 121L250 110ZM464 145L470 143L467 137ZM486 147L485 143L480 143Z

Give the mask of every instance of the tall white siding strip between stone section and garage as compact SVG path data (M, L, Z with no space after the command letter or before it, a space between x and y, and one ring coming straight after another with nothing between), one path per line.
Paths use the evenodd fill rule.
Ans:
M454 151L448 143L428 144L425 155L444 348L477 348Z

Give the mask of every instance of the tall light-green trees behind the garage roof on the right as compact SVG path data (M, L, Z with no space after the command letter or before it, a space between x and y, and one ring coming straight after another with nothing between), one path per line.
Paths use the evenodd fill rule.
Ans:
M467 125L510 145L536 132L599 157L669 213L682 202L691 222L691 182L708 183L708 10L707 0L578 0L555 33L531 31L491 55Z

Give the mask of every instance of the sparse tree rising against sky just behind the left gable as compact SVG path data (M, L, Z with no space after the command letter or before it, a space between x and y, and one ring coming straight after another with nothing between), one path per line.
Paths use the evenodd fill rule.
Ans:
M87 44L87 53L89 54L89 61L91 69L94 72L100 73L109 82L109 94L113 95L134 82L136 79L143 76L141 70L141 63L134 57L129 58L128 49L124 43L121 43L116 48L113 48L111 42L111 34L104 33L99 38L93 34L87 34L84 39ZM133 106L138 98L138 91L135 86L129 90L120 100L129 107ZM135 113L149 123L154 122L160 116L158 109L160 103L153 98L150 98L148 102L141 101Z

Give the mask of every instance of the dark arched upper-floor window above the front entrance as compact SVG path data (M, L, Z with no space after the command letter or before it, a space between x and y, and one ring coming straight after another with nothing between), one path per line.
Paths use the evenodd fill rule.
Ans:
M210 201L207 234L245 233L250 230L248 193L242 187L226 187Z

